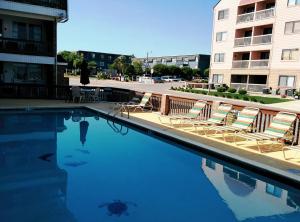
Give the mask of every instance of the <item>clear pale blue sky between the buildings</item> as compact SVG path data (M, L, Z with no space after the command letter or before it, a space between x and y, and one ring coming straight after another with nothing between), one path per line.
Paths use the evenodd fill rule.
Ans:
M210 53L217 0L69 0L58 50L150 56Z

